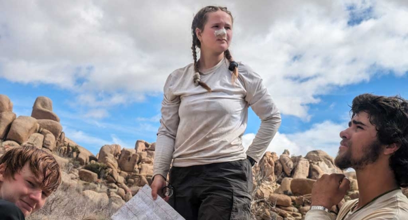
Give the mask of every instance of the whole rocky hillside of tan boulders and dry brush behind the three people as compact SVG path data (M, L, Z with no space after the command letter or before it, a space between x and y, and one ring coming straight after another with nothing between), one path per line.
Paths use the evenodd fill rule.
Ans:
M64 216L86 219L88 215L109 219L152 181L155 143L137 140L134 149L104 145L94 155L65 136L49 98L38 97L31 116L16 118L12 102L0 95L0 154L26 144L53 154L63 171L61 187L31 220L57 216L60 220ZM286 150L279 156L266 152L253 173L251 219L302 220L310 209L316 179L342 171L334 165L334 158L323 151L311 151L302 157L291 156ZM333 215L345 201L359 197L355 173L345 175L351 180L351 190L332 207Z

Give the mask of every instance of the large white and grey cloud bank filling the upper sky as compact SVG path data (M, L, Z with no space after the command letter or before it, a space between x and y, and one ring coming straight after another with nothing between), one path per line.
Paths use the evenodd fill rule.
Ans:
M76 103L91 108L143 101L162 90L170 72L192 61L192 16L207 4L1 1L7 10L0 13L0 77L71 89ZM234 57L264 78L284 114L309 120L308 105L332 88L368 81L379 69L396 75L408 70L406 1L217 4L235 18ZM368 9L371 14L348 26L352 4L358 16Z

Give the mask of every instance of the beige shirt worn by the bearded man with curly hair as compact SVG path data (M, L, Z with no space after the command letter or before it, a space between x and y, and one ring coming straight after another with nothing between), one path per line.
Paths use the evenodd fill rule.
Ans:
M346 202L334 219L323 210L310 210L305 220L408 220L408 198L395 190L377 198L360 210L355 210L359 199Z

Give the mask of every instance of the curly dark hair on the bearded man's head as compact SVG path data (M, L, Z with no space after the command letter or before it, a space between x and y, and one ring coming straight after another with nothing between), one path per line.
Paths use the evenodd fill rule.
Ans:
M401 96L361 94L353 99L350 114L366 112L376 126L382 144L396 143L400 148L390 156L389 166L400 187L408 186L408 101Z

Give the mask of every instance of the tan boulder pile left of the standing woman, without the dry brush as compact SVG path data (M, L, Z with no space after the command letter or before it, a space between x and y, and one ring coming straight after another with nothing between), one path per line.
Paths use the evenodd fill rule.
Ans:
M13 112L13 103L0 95L0 155L24 145L53 154L63 170L62 187L85 189L83 196L119 208L140 186L151 184L155 144L138 140L135 149L104 145L95 156L65 136L48 97L38 97L31 116Z

